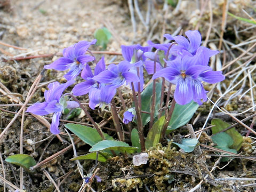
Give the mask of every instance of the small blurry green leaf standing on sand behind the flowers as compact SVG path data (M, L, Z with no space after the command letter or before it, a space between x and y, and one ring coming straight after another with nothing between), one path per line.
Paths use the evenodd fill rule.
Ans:
M94 37L95 39L97 39L96 45L101 45L102 48L105 50L109 42L109 39L111 38L111 33L106 27L103 27L95 31Z

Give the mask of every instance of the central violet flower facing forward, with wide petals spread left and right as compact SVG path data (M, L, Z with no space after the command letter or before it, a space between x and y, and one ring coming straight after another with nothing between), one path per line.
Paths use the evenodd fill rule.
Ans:
M94 76L92 79L103 83L110 84L114 87L119 87L130 82L139 82L139 77L129 71L133 67L128 61L121 61L118 65L110 64L108 70L102 71L98 75Z

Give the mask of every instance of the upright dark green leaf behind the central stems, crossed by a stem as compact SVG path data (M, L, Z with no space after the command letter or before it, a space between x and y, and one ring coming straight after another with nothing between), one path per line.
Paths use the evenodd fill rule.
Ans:
M161 99L161 89L162 89L162 81L156 82L156 104L155 104L155 112L154 117L158 115L158 109L160 105ZM152 103L152 93L153 93L153 82L150 83L145 90L141 92L141 110L150 111L151 103ZM150 114L141 114L142 124L145 126L150 121Z

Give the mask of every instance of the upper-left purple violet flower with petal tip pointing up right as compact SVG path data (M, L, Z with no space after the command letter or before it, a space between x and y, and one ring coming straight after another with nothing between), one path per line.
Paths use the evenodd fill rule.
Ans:
M44 66L44 68L61 71L70 69L69 72L64 75L64 77L68 81L70 79L74 79L79 75L80 71L84 68L84 65L87 62L94 60L94 57L85 55L85 52L89 46L95 44L96 41L96 39L94 39L92 42L81 41L63 49L63 57L57 59L50 65Z

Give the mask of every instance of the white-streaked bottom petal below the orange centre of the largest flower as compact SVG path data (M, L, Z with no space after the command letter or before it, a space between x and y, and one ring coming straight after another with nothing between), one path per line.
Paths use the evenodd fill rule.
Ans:
M179 105L186 105L193 99L191 79L179 78L174 91L174 99Z

